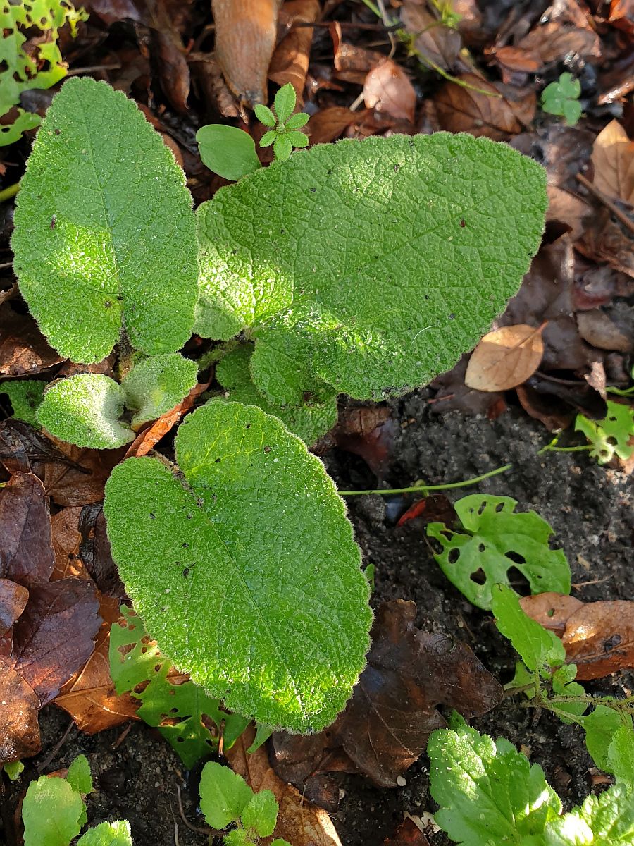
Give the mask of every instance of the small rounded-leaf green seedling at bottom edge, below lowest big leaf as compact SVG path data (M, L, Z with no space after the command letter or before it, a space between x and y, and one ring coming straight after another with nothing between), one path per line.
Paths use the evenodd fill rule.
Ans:
M271 790L254 793L228 766L205 764L200 777L200 810L211 827L233 826L222 835L225 846L255 846L275 831L279 805ZM276 838L271 846L290 846Z

